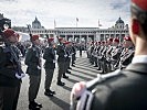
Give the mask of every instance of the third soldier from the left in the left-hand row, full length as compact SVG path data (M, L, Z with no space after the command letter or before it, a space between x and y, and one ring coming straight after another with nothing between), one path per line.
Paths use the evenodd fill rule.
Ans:
M55 68L55 50L53 47L54 45L54 38L50 37L48 40L49 45L44 51L43 54L43 58L45 59L45 64L44 64L44 68L45 68L45 96L53 96L55 94L55 91L50 89L51 82L52 82L52 78L53 78L53 74L54 74L54 68Z

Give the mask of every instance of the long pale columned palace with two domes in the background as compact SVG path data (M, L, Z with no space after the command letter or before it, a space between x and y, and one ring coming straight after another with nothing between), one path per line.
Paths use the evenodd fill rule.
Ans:
M13 28L18 32L28 33L27 28ZM32 34L39 34L42 37L48 35L61 36L66 41L75 41L77 43L81 42L91 42L91 41L105 41L108 37L118 37L119 41L123 41L124 36L127 36L128 33L128 24L125 24L124 21L118 18L115 25L108 29L99 29L99 28L55 28L55 29L44 29L41 26L38 18L32 22L31 26Z

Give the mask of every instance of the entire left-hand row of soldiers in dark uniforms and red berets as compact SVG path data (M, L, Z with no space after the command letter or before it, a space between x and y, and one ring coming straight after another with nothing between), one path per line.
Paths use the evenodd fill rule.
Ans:
M62 81L62 78L69 78L65 73L70 74L70 64L72 66L75 64L75 44L59 37L60 44L57 47L54 47L54 38L49 37L49 44L44 53L42 53L39 35L30 35L32 45L25 54L24 63L28 67L24 74L21 67L20 51L15 45L18 43L17 35L11 29L7 29L2 33L4 43L0 46L0 110L17 110L21 82L25 74L29 75L30 79L29 109L40 110L42 105L38 103L35 98L41 82L42 56L45 59L43 65L45 69L44 95L51 97L55 95L55 91L50 89L55 63L57 62L59 66L56 85L64 86L65 84Z

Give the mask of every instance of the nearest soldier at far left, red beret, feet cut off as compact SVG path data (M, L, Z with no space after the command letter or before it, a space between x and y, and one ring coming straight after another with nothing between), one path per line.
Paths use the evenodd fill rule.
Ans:
M0 46L0 110L17 110L21 78L24 77L14 46L18 37L12 29L8 29L3 38L6 43Z

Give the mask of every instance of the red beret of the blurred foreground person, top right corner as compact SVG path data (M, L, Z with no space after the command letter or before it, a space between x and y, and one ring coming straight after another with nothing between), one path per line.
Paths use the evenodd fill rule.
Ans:
M132 2L140 9L143 9L144 11L147 11L147 0L132 0Z

